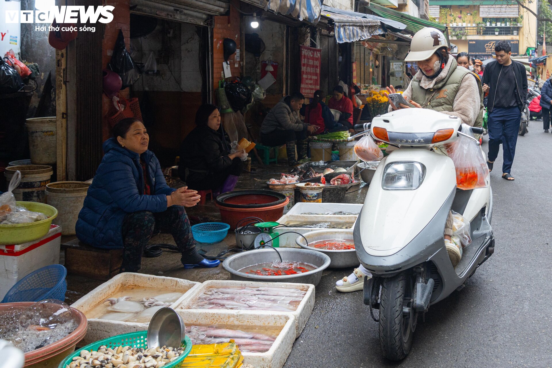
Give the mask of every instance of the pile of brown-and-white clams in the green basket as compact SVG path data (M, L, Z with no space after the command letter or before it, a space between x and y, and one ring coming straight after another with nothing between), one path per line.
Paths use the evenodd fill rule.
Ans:
M182 354L184 348L131 348L118 346L112 349L105 345L98 351L81 350L65 368L161 368Z

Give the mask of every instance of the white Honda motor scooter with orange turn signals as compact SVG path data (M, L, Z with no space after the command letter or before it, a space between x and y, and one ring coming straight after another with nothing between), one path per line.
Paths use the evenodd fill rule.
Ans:
M494 252L489 182L486 188L457 189L452 159L432 150L460 135L479 146L465 130L482 134L483 129L427 109L396 110L355 128L364 130L356 136L371 134L399 148L376 169L354 227L354 243L360 262L373 275L364 282L364 303L379 322L383 353L401 360L410 351L418 315L462 289ZM451 209L471 227L471 243L456 268L444 246ZM379 309L379 318L373 309Z

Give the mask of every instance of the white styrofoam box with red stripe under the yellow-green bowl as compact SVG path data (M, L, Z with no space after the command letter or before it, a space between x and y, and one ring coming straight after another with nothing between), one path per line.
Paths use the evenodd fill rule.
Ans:
M38 240L0 246L0 300L9 289L33 271L60 263L61 226L51 225Z

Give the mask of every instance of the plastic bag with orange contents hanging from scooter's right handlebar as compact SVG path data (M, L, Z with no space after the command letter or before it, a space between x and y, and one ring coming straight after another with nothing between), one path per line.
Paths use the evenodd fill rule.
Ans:
M467 125L466 127L469 128ZM467 134L474 136L469 129L462 131L468 131ZM489 168L479 146L473 140L460 136L456 142L445 145L445 149L456 168L457 188L468 190L487 187Z

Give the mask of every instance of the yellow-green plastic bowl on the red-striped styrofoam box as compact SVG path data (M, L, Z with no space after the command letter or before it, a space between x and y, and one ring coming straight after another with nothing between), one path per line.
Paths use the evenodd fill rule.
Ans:
M56 207L44 203L17 201L17 204L29 211L42 212L48 218L36 222L0 225L0 244L3 246L8 244L23 244L40 239L50 231L52 220L57 216Z

